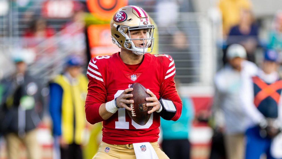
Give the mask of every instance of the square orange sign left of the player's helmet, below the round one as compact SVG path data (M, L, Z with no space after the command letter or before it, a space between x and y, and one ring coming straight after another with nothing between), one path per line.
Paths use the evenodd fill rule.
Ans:
M111 55L120 48L112 43L110 24L95 24L87 28L91 57Z

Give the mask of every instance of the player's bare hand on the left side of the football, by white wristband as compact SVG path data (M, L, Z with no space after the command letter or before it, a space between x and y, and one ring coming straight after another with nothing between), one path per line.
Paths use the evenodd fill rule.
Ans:
M125 109L131 111L131 108L130 108L130 107L127 107L127 105L126 105L126 104L132 104L132 103L134 103L133 100L126 100L126 98L130 98L130 97L133 96L132 94L127 94L127 93L130 92L130 91L133 91L133 88L127 88L127 89L125 89L125 90L122 92L122 94L116 98L116 104L118 105L119 108L125 108Z

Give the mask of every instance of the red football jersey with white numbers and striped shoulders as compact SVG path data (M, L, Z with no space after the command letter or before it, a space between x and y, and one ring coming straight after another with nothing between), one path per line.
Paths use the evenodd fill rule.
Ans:
M119 52L110 56L92 58L88 65L88 93L85 101L87 121L91 124L103 121L102 141L108 144L156 142L159 138L160 116L151 114L146 125L138 125L120 108L109 119L99 115L102 103L118 97L132 83L138 82L152 91L157 98L170 99L176 105L176 121L181 115L182 102L175 83L175 66L169 55L145 54L141 65L132 72L121 60Z

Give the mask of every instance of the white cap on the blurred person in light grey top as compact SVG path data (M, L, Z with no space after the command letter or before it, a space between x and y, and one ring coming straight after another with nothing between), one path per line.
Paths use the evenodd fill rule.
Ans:
M247 58L247 52L242 45L232 44L227 48L226 57L229 60L235 57Z

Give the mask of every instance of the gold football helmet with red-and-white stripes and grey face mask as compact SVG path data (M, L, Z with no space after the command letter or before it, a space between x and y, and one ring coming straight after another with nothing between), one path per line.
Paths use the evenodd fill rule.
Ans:
M110 26L112 42L118 47L131 50L140 56L153 51L155 27L149 15L142 8L132 5L120 8L114 14ZM147 38L132 39L130 30L136 29L147 29ZM132 40L143 40L143 47L135 46ZM149 47L151 51L147 52Z

